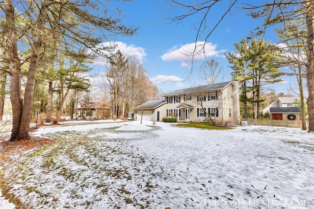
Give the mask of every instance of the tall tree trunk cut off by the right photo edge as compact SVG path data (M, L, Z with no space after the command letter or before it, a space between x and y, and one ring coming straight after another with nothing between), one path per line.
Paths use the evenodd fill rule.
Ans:
M308 114L309 114L309 131L314 132L314 51L313 51L313 19L314 19L314 2L306 2L306 26L307 26L307 52L308 63L306 66L306 77L308 84Z

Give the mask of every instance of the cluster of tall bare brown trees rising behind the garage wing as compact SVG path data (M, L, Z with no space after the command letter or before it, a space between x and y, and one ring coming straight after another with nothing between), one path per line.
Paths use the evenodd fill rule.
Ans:
M147 70L132 56L126 57L122 53L113 56L106 67L105 76L110 87L113 118L117 118L119 108L122 109L122 116L125 116L135 106L160 98L160 92L149 79Z

